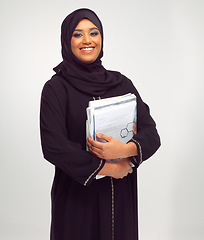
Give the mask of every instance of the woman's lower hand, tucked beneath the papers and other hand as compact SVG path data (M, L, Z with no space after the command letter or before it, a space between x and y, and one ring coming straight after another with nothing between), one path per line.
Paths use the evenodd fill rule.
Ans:
M104 167L98 175L105 175L116 179L124 178L128 173L132 173L131 162L128 158L123 158L115 163L106 161Z

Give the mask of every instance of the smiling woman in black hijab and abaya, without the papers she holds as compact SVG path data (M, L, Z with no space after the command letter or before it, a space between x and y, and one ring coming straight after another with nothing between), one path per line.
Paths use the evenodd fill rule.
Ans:
M40 114L44 157L55 165L51 240L136 240L137 167L160 146L155 122L132 82L102 66L103 30L94 12L68 15L61 43L63 62L43 88ZM131 141L102 134L98 137L106 143L86 139L88 102L126 93L137 97L137 133ZM111 158L121 160L104 160ZM96 180L96 175L106 177Z

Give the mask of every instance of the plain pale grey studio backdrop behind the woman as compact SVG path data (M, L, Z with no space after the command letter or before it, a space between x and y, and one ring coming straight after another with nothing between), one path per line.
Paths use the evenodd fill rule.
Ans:
M76 8L104 25L103 64L132 79L162 148L139 168L141 240L204 236L202 0L3 0L0 7L0 239L49 239L54 167L41 153L39 104Z

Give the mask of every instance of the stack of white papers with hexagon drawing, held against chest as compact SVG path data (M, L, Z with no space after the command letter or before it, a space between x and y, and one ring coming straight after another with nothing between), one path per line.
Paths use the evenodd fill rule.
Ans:
M136 125L136 96L126 95L90 101L87 111L87 137L97 139L95 133L112 136L123 143L127 143L134 135L133 126ZM117 159L108 160L117 161Z

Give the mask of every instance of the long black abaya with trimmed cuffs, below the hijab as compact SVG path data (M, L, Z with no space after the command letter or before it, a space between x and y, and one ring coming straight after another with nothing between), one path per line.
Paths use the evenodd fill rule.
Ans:
M149 108L126 77L101 98L134 93L140 144L137 166L160 141ZM85 151L86 107L91 97L54 76L42 92L41 138L44 157L53 163L51 240L137 240L137 166L123 179L96 180L104 160Z

